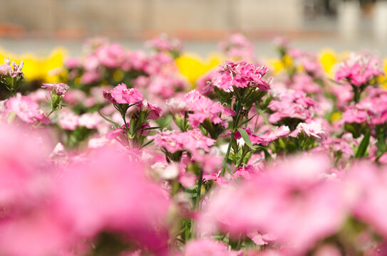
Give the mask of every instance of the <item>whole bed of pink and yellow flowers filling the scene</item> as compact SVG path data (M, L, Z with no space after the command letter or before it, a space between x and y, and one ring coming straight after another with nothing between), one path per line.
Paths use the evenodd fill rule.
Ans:
M0 65L0 255L387 254L378 57L146 46Z

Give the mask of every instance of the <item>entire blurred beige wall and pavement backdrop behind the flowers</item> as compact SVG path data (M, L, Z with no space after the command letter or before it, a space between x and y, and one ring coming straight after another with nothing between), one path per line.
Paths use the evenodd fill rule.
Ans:
M106 36L128 48L162 32L207 55L242 31L258 55L272 38L304 50L368 50L387 55L387 1L381 0L1 0L0 48L46 54L58 45L81 54L85 38Z

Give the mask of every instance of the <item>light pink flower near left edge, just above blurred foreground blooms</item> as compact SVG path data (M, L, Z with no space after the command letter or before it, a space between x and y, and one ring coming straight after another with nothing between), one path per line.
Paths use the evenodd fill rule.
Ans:
M24 122L32 123L35 121L49 124L50 119L39 111L39 106L27 96L21 96L18 93L15 97L9 98L6 107L14 112Z

